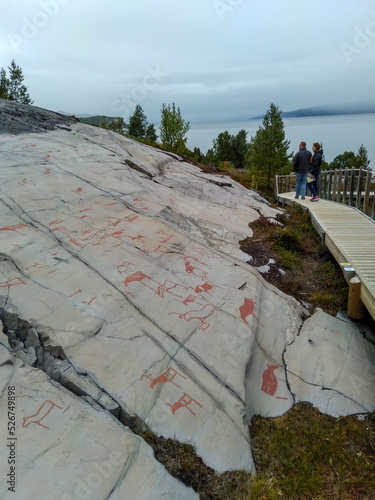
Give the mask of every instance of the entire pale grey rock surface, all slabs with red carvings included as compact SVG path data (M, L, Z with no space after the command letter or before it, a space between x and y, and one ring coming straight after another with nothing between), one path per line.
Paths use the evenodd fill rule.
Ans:
M24 108L0 104L22 127ZM50 113L27 108L41 130ZM196 498L139 430L191 444L217 472L254 472L255 413L374 408L374 346L319 311L305 321L246 263L249 222L279 212L259 194L81 123L1 135L0 176L0 409L14 386L17 498Z

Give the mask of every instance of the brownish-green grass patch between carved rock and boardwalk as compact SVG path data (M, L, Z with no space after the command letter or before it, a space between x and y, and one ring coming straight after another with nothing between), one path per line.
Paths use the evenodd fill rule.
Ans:
M254 267L275 261L263 277L303 302L311 312L320 307L336 315L347 308L348 284L334 258L323 250L310 216L300 206L287 207L276 224L261 217L251 224L254 234L240 242Z

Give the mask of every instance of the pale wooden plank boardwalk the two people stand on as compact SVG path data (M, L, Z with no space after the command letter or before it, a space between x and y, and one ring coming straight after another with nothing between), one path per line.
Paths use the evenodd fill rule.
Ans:
M354 207L327 200L295 199L295 191L278 194L282 205L306 207L324 245L339 264L350 263L360 280L359 297L375 320L375 221ZM355 280L358 281L358 280Z

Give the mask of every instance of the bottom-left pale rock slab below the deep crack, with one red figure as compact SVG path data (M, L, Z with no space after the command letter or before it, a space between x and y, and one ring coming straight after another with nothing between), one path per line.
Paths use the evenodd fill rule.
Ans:
M198 499L155 460L153 450L107 412L98 412L0 346L3 500ZM16 393L15 436L8 439L8 388ZM14 438L14 439L13 439ZM15 492L6 483L16 448Z

